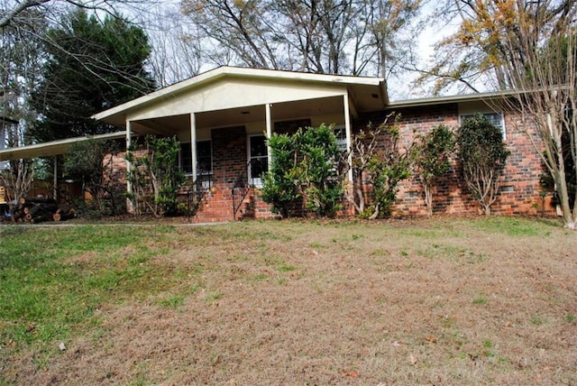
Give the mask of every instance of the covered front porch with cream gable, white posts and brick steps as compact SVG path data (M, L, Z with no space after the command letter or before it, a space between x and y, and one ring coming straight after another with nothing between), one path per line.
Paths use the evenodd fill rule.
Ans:
M223 221L242 211L243 202L234 202L235 189L245 190L244 200L251 188L261 186L271 161L266 139L272 133L334 124L339 145L347 150L353 120L386 104L379 78L220 68L94 117L124 129L127 148L136 135L176 135L181 169L194 186L210 188L198 216ZM252 214L270 216L266 206L253 208Z

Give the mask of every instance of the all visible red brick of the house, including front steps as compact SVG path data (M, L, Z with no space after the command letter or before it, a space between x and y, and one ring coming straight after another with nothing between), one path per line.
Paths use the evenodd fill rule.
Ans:
M368 122L381 124L390 111L366 115L355 123L357 130ZM401 148L408 148L413 139L431 130L437 124L445 124L454 130L459 125L456 104L418 106L398 109L400 114ZM498 215L535 215L544 203L540 197L539 176L542 172L538 154L527 135L517 129L514 117L506 115L505 126L510 156L501 177L499 198L491 207ZM390 120L389 120L390 122ZM247 164L247 134L243 126L215 129L211 132L213 147L212 188L206 193L194 222L231 221L234 219L271 218L270 207L261 200L258 188L251 188L236 214L233 209L232 188L234 180L245 172ZM114 161L114 170L122 170L121 159ZM183 195L184 198L184 195ZM550 205L551 195L545 198L545 213L554 214ZM352 207L343 216L352 215ZM438 179L434 195L434 213L448 215L480 214L479 205L464 187L456 163L452 170ZM426 204L423 189L417 178L404 181L398 190L398 203L393 207L394 216L425 216Z

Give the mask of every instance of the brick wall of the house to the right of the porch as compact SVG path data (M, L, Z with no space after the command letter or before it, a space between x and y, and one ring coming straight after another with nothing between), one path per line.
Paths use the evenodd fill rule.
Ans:
M367 122L381 124L389 111L368 115L360 122L358 128ZM437 124L445 124L456 131L459 126L459 114L456 104L439 106L408 107L398 109L400 114L400 148L408 148L418 134L432 130ZM392 117L389 123L392 123ZM520 120L516 116L505 116L507 130L507 147L511 154L501 176L501 191L499 198L492 205L491 211L498 215L535 215L540 213L542 198L539 196L539 176L542 173L538 153L522 132ZM465 187L456 161L453 167L436 184L433 198L433 210L436 214L479 214L481 208L472 199L471 193ZM550 205L551 198L545 198L545 213L554 214ZM400 184L398 203L393 207L395 215L426 215L425 194L418 179L413 177Z

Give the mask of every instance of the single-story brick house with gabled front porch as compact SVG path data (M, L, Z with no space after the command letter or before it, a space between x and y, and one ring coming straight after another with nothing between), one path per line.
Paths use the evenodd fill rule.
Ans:
M105 110L94 118L118 127L122 132L113 135L123 135L127 146L145 134L176 135L181 142L180 167L196 181L196 187L206 189L195 220L204 222L272 216L258 189L271 161L266 138L272 133L334 124L339 143L347 148L355 131L369 122L380 124L395 112L401 116L400 134L408 144L435 124L456 128L464 116L481 112L502 128L512 154L494 212L536 213L542 204L538 154L524 134L512 130L515 116L490 109L487 101L491 97L498 95L390 102L382 78L221 67ZM13 150L11 157L39 156L50 146L51 153L57 153L67 145L34 145L39 148L33 152ZM0 160L6 154L0 151ZM115 161L118 170L130 167L122 157ZM456 170L444 176L435 196L435 213L477 213L476 204L460 182ZM129 182L127 188L131 189ZM395 213L426 213L416 179L403 184L398 197Z

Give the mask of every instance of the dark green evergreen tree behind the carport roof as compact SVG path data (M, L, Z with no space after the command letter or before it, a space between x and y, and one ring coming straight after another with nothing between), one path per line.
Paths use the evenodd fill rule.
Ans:
M90 116L154 88L144 68L147 37L120 16L100 21L80 9L48 37L43 79L32 96L40 120L30 135L38 142L114 131Z

